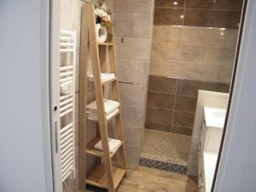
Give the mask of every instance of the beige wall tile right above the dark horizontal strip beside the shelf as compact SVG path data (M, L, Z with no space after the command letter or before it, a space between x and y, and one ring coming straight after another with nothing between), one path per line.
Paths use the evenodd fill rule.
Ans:
M117 61L119 82L148 84L149 62Z

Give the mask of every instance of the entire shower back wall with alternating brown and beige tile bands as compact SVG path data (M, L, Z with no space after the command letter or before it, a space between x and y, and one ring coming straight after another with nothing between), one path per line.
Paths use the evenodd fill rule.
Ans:
M229 91L241 3L155 0L146 128L191 135L198 90Z

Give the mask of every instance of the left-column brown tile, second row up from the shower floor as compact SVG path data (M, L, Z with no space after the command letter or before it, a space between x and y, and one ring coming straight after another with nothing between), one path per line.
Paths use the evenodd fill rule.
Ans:
M147 108L146 121L161 123L161 124L172 124L172 110L163 108Z

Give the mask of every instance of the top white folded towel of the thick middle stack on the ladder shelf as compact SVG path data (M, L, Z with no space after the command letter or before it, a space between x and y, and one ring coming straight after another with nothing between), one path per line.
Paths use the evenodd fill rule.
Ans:
M119 108L120 103L115 102L113 100L104 100L104 108L105 113L108 115L109 113L112 113L114 110ZM86 107L87 111L90 113L96 113L97 112L97 105L96 101L90 102L89 105Z

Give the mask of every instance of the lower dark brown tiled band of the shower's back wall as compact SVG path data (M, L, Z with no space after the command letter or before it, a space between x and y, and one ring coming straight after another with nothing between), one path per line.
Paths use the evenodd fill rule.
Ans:
M198 90L228 92L229 84L150 75L146 129L191 136Z

